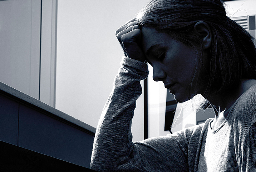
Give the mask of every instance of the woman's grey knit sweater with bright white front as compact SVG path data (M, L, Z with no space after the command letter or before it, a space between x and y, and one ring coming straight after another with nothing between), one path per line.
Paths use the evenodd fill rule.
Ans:
M123 57L95 134L96 171L256 171L256 85L232 106L215 131L204 124L132 142L131 124L146 63ZM199 167L199 168L198 168Z

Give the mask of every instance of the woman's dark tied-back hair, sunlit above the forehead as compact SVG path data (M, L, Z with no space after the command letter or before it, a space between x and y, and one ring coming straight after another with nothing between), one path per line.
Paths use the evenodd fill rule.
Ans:
M192 34L198 21L206 22L212 34L210 70L204 78L207 93L225 93L237 87L242 78L256 79L255 40L226 16L221 0L152 0L137 15L138 25L168 33L191 47L202 47L200 39ZM202 49L195 73L202 70L201 57Z

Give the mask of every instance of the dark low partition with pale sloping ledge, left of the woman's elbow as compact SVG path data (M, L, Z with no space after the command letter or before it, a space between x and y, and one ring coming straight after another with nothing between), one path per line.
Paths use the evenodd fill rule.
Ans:
M0 82L0 141L89 168L95 130Z

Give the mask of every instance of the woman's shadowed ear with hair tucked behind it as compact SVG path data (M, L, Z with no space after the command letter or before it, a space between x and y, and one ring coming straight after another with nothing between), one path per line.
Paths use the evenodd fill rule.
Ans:
M198 21L194 26L193 33L201 39L203 49L207 49L211 46L211 42L212 42L211 29L206 22Z

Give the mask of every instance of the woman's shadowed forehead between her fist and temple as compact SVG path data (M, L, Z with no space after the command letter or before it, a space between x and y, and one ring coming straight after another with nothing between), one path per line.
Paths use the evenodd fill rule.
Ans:
M146 52L153 46L166 46L171 42L172 38L166 33L160 33L149 27L141 28L141 48Z

